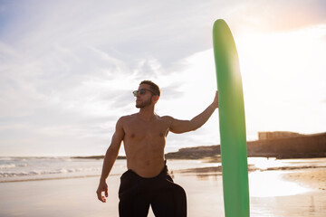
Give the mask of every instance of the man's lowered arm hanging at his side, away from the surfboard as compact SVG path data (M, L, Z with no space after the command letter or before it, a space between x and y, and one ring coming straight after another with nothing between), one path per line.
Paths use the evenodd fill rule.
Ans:
M122 118L120 118L117 122L116 129L111 140L111 144L104 157L100 184L96 191L99 200L103 203L106 202L106 199L104 196L101 195L101 193L104 192L105 196L108 197L108 185L106 184L106 179L110 174L110 170L112 169L112 166L117 160L123 137L124 137L124 131L122 127Z

